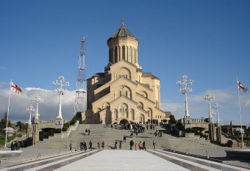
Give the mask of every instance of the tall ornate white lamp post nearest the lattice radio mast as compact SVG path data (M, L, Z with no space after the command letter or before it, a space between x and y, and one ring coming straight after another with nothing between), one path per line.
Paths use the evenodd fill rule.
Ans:
M64 76L59 76L58 80L53 81L52 82L53 85L55 86L59 86L59 88L57 89L57 92L59 94L59 105L58 105L58 115L57 115L57 119L63 119L62 117L62 102L61 102L61 96L63 95L63 86L69 86L69 82L65 82L64 81Z

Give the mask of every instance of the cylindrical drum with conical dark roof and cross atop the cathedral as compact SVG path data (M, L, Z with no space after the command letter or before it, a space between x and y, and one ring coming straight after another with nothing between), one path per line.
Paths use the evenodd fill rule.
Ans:
M125 27L121 19L121 27L108 39L109 65L125 60L139 67L138 39Z

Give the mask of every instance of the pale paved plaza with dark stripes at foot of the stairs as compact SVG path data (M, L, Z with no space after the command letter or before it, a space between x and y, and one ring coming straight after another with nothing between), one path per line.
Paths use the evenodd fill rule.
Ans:
M210 160L180 155L163 150L93 150L72 152L40 159L1 170L86 170L86 171L165 171L165 170L247 170Z

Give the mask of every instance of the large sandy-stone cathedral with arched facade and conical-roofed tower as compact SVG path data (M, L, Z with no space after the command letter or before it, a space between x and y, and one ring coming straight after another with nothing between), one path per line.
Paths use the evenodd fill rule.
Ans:
M83 123L160 123L169 112L160 109L160 79L143 72L138 39L121 27L108 39L109 62L103 73L87 79L87 110Z

